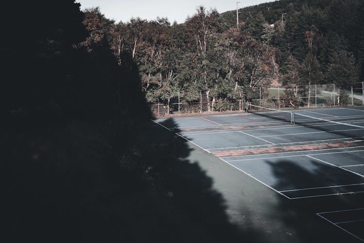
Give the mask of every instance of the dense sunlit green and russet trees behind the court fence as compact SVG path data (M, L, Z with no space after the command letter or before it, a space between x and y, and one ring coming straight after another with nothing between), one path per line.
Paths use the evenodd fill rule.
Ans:
M235 11L201 6L183 24L113 23L98 8L86 10L84 21L93 42L107 36L120 66L132 57L147 101L164 103L169 113L178 96L193 103L202 93L210 111L217 100L257 98L253 90L272 82L350 87L364 73L363 12L360 0L281 0L241 9L238 29Z

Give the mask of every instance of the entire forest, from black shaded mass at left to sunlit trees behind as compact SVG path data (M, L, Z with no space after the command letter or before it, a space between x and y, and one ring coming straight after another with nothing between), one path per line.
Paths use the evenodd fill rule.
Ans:
M227 110L273 83L345 89L364 78L362 0L251 6L238 27L235 11L202 6L182 24L116 23L75 0L2 6L8 242L241 239L186 142L150 124L150 105L170 114L178 98L203 99L204 111ZM297 102L292 92L287 105Z

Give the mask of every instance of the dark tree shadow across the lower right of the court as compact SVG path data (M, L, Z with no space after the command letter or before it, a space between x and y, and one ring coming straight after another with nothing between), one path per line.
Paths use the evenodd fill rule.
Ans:
M363 183L360 176L350 177L349 173L337 167L313 159L309 161L309 165L289 159L266 163L270 165L272 176L277 180L271 185L272 188L285 191L282 193L290 198L296 198L279 196L279 203L273 208L271 218L284 222L301 242L347 242L350 239L350 235L318 217L316 213L362 208L363 193L328 195L346 192L334 187L335 185ZM315 189L314 192L290 191L317 187L325 188ZM321 196L311 197L313 195ZM355 239L352 240L355 242Z

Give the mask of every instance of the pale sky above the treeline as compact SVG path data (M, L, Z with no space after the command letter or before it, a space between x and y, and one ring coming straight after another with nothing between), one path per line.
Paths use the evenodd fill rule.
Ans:
M257 5L273 0L240 0L239 8ZM183 23L187 16L193 16L199 5L207 10L216 8L219 13L236 9L236 0L76 0L81 9L99 6L100 12L116 22L128 22L131 17L153 20L167 17L172 24Z

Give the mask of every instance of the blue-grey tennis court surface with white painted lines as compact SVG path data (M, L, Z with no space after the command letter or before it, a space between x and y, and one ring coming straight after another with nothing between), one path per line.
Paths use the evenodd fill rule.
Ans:
M286 200L364 193L362 107L257 110L154 122ZM316 214L364 242L364 209L331 209Z

